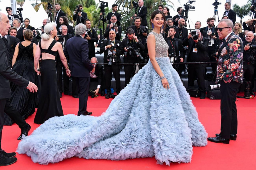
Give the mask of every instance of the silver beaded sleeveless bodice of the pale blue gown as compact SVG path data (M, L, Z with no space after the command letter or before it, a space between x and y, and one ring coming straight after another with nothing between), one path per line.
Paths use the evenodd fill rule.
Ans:
M149 35L150 34L153 34L156 39L156 57L168 57L168 44L162 34L157 34L155 32L150 32Z

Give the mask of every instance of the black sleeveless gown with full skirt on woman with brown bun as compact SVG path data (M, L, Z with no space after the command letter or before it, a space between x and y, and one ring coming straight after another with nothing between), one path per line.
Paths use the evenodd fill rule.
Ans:
M28 46L19 44L19 55L15 64L12 67L13 71L21 75L28 81L33 82L35 85L39 85L39 79L37 73L34 71L34 56L33 56L33 42ZM29 115L35 112L35 108L38 105L39 93L31 93L29 90L24 89L14 83L11 83L12 95L10 98L11 104L21 114L23 119L27 119ZM12 125L12 119L5 114L4 125Z

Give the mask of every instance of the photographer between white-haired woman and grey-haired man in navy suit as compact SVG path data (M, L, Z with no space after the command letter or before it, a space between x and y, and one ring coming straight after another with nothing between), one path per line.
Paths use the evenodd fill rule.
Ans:
M62 30L62 32L60 32ZM61 25L59 29L59 35L55 37L56 41L59 41L62 45L62 49L65 48L66 42L72 35L68 34L68 28L66 25ZM66 57L67 58L67 57ZM68 58L67 58L68 61ZM56 57L56 70L57 70L57 86L59 89L59 95L62 97L62 71L63 73L66 72L65 67L63 66L60 57ZM64 95L71 96L72 93L69 91L69 77L67 74L63 74L63 84L64 84Z

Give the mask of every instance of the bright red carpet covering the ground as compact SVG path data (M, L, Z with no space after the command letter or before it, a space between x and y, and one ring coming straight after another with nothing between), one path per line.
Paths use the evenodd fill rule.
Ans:
M243 94L241 94L243 95ZM205 126L209 137L220 131L221 115L220 100L210 100L206 98L191 98L199 119ZM236 101L238 109L238 138L230 143L212 143L208 142L206 147L194 147L191 163L178 164L171 166L157 165L154 158L129 159L122 161L111 160L87 160L83 158L70 158L60 163L39 165L33 163L30 157L17 154L18 161L9 166L2 166L1 170L253 170L256 169L256 99L239 98ZM77 114L78 99L63 95L61 98L64 114ZM101 115L110 104L111 99L99 96L88 100L88 111L93 112L94 116ZM27 119L32 126L29 131L36 129L39 125L34 124L35 113ZM20 135L20 129L16 124L4 126L2 132L2 148L7 152L14 152L18 145L17 137Z

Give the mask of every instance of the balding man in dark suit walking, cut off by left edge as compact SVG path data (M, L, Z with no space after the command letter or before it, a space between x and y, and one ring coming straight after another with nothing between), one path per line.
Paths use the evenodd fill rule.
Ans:
M8 34L11 25L9 23L8 17L4 13L0 13L0 166L10 165L17 161L17 158L14 158L16 153L6 153L1 148L1 139L2 139L2 129L4 127L4 113L9 114L10 116L15 116L18 114L17 110L13 108L8 100L11 97L11 88L10 81L20 85L24 88L27 88L30 92L37 92L37 86L29 82L28 80L22 78L20 75L13 72L9 65L9 52L6 47L8 47L8 42L5 35ZM25 122L24 128L30 127ZM23 130L24 130L23 128ZM28 129L26 129L27 135Z

